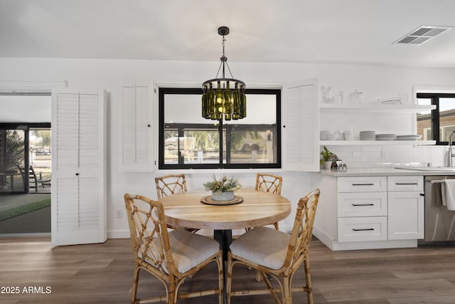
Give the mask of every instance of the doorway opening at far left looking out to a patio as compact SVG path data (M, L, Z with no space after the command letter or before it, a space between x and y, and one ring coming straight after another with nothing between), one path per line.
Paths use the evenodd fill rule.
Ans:
M0 236L50 236L50 94L0 95L0 107Z

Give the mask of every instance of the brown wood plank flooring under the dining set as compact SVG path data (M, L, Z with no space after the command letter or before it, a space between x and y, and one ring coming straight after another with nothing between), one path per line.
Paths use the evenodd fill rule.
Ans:
M330 251L311 243L315 303L455 303L455 247ZM47 238L0 239L0 303L129 303L133 259L128 239L78 246L50 246ZM205 268L183 288L216 284L215 267ZM255 271L234 268L234 288L257 285ZM301 272L294 283L303 282ZM11 287L19 293L11 294ZM31 287L33 293L23 288ZM46 288L48 288L46 290ZM162 285L142 273L139 295L158 295ZM46 291L48 293L46 293ZM294 303L306 303L294 293ZM215 296L181 304L217 303ZM269 295L232 298L232 304L274 303Z

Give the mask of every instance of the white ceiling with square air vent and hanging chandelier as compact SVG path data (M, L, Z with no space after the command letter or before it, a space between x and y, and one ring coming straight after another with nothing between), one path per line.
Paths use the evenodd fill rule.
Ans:
M0 0L0 57L372 63L455 68L453 0Z

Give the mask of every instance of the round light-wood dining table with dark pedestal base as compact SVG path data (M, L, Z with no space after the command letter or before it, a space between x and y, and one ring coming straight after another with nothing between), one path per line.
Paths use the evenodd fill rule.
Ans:
M232 242L232 229L264 226L280 221L291 213L289 199L278 194L240 189L235 192L240 204L212 205L201 202L210 194L203 190L181 192L160 199L168 224L193 229L213 229L225 256Z

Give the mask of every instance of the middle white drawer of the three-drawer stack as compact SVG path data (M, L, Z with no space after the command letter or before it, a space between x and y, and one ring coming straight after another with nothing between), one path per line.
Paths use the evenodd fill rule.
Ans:
M387 216L387 192L338 193L338 216Z

